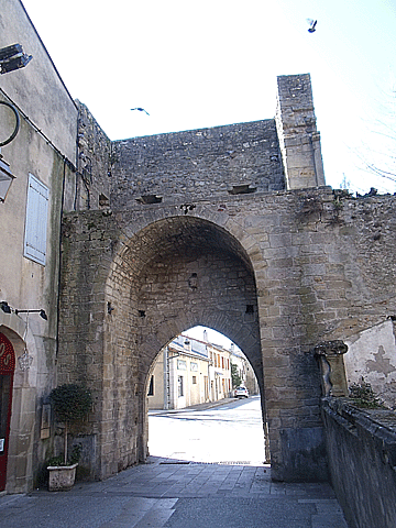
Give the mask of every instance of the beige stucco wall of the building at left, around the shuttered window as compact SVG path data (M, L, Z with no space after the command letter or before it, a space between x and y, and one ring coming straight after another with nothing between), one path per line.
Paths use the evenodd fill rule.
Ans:
M0 8L0 47L20 43L33 55L25 68L1 75L0 100L18 109L21 124L15 139L1 148L15 178L0 204L4 255L0 300L12 309L44 309L47 314L47 320L30 315L28 327L25 314L0 314L0 331L10 339L16 355L7 491L24 493L37 482L51 451L51 439L42 438L41 419L43 402L56 383L61 211L64 179L74 177L68 162L76 158L77 108L21 2L1 0ZM2 140L13 125L13 114L1 106ZM45 265L23 256L30 173L48 189ZM18 358L25 348L32 364L22 371Z

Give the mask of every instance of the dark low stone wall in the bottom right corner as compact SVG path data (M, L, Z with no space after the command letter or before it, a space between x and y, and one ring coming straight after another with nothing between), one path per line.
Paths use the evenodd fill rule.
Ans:
M396 526L396 419L323 400L331 481L351 528Z

